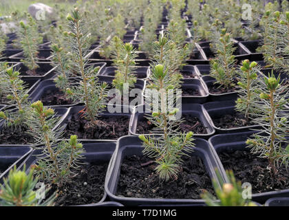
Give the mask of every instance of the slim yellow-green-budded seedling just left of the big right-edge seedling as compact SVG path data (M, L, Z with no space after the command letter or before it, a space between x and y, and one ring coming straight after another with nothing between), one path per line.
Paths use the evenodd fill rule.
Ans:
M255 86L257 83L257 73L261 67L256 62L250 63L250 61L243 61L242 67L238 72L238 83L239 87L238 94L239 98L236 101L236 109L240 113L244 113L245 118L248 122L251 114L255 112L254 101L255 101Z

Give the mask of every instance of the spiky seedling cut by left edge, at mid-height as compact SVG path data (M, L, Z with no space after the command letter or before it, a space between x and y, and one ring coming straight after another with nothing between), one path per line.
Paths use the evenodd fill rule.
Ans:
M11 110L0 111L0 119L5 120L6 126L22 125L28 118L29 102L28 90L18 71L12 67L0 72L0 87L7 100L7 104L14 107Z

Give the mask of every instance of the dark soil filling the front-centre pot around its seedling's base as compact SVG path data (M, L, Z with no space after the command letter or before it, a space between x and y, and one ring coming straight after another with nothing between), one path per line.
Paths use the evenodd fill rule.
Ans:
M144 166L149 157L125 157L121 165L118 191L120 197L200 199L203 190L213 193L211 179L200 157L184 157L178 179L162 181L156 164Z

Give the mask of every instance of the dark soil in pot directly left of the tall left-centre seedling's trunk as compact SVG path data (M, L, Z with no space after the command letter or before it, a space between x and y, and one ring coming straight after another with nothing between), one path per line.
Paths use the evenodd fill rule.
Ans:
M41 96L44 105L72 104L72 100L67 99L63 91L59 89L47 89Z

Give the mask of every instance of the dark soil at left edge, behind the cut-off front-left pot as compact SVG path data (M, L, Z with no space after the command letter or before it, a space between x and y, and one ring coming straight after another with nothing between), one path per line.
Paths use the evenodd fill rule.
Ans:
M29 144L34 142L34 137L26 133L24 126L3 127L0 130L0 144Z

